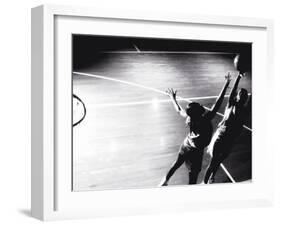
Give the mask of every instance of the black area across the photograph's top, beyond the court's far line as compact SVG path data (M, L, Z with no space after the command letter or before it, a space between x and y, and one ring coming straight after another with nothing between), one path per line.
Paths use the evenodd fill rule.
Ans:
M136 45L141 51L198 51L243 54L247 60L246 64L249 65L248 70L251 71L252 48L249 43L73 35L72 44L73 70L98 64L103 60L103 52L136 51L134 48L134 45Z

